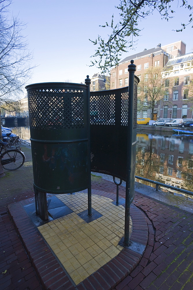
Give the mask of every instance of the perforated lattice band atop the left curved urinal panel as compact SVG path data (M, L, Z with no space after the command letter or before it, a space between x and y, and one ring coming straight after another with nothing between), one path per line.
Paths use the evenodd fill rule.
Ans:
M29 108L32 128L84 128L83 90L30 91Z

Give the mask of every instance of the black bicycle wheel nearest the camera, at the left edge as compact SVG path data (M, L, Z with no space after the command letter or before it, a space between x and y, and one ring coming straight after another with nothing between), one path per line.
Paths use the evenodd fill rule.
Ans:
M25 156L18 150L6 150L1 155L1 164L6 170L16 170L20 168L25 161Z

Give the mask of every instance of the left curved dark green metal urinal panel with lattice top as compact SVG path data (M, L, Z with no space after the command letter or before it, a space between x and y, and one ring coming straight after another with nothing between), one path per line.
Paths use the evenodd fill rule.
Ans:
M39 83L26 89L34 188L54 194L89 188L89 85Z

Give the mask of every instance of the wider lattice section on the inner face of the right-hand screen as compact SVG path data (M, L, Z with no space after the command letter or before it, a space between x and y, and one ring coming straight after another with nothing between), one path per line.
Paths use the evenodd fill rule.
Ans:
M115 124L115 95L95 95L90 98L90 124Z

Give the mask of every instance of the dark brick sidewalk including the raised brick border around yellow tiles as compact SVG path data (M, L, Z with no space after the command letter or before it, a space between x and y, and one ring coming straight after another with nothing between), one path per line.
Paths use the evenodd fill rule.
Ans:
M193 215L137 192L131 207L131 239L146 246L144 253L140 255L123 249L76 284L65 269L67 263L62 264L52 245L45 240L47 237L43 238L43 232L41 234L32 226L23 210L23 205L33 202L34 192L31 149L22 147L21 150L26 155L24 166L16 171L6 171L6 176L0 179L2 290L193 289ZM116 185L92 176L92 195L93 199L96 196L116 200ZM119 195L125 198L123 186L120 186ZM101 232L105 235L106 227L103 229ZM108 236L107 240L110 240ZM105 242L101 247L104 246Z

